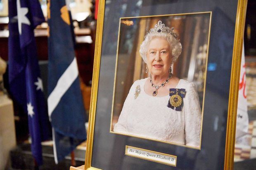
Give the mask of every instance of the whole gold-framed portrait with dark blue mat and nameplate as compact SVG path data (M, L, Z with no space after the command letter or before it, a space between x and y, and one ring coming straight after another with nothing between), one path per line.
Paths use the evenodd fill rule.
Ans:
M232 169L247 0L100 0L85 169Z

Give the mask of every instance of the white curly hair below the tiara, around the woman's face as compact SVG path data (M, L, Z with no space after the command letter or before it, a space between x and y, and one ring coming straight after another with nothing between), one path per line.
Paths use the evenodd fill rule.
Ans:
M147 35L146 39L140 45L140 56L142 57L143 61L147 64L147 49L148 49L149 42L156 37L164 38L169 43L172 49L172 53L171 53L173 56L172 63L177 61L178 57L181 54L182 45L180 44L179 40L176 40L175 37L173 37L173 35L165 32L150 33L149 35Z

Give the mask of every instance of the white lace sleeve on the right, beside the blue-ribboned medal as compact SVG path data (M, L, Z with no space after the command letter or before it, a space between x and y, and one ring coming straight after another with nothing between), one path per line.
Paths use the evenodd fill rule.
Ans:
M184 101L185 141L187 146L200 146L201 107L194 83L189 83Z

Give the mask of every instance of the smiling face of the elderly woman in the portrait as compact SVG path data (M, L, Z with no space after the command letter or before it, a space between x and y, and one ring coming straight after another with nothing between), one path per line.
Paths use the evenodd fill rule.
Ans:
M167 40L160 37L152 39L147 49L147 66L151 75L168 75L171 62L171 47Z

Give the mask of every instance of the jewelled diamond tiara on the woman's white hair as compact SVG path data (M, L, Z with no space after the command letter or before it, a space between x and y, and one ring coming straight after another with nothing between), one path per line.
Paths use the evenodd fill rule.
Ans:
M174 33L173 30L174 30L174 27L172 28L166 27L164 23L162 23L162 21L159 20L157 24L154 26L154 28L151 28L149 31L148 30L146 31L147 35L145 35L145 39L151 33L170 33L177 40L179 35L177 33Z

